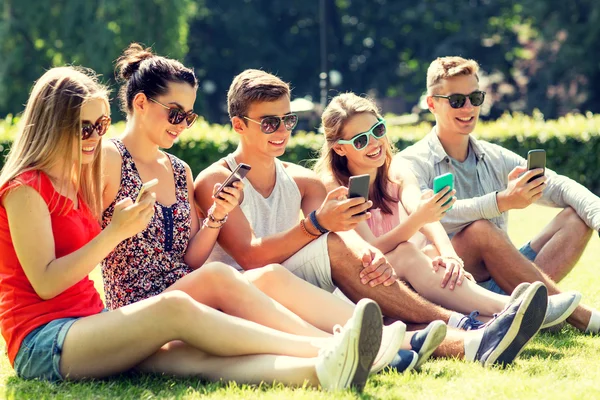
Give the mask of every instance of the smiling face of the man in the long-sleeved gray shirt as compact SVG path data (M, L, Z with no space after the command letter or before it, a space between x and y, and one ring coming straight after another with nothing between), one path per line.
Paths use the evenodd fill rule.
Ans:
M479 82L475 75L459 75L442 80L436 94L468 95L476 90L479 90ZM435 115L438 133L444 136L469 135L477 125L481 109L481 107L473 106L468 98L463 107L452 108L448 99L427 96L427 105Z

